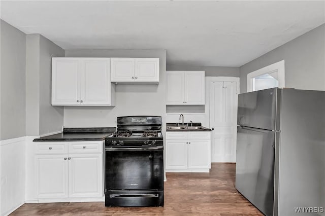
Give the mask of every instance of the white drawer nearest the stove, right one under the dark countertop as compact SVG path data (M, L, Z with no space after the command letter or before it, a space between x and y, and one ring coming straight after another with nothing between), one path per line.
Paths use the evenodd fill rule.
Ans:
M103 141L69 142L69 154L71 153L103 153Z

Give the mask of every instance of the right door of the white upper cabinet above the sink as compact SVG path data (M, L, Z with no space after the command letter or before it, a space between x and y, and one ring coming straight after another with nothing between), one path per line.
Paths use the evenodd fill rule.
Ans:
M204 71L185 71L185 104L204 105Z

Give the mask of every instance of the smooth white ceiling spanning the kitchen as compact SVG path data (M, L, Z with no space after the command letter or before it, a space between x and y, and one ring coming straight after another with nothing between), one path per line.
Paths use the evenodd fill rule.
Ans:
M168 64L241 66L325 23L325 1L2 1L63 49L166 49Z

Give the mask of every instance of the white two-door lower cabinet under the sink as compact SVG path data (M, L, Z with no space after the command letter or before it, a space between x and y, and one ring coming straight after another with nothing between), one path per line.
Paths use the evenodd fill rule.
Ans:
M167 132L166 172L209 172L210 133L208 131Z

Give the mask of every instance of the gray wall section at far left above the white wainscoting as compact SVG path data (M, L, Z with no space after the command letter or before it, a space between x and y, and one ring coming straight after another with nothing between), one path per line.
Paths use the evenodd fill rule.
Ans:
M0 140L25 136L25 34L0 20Z

